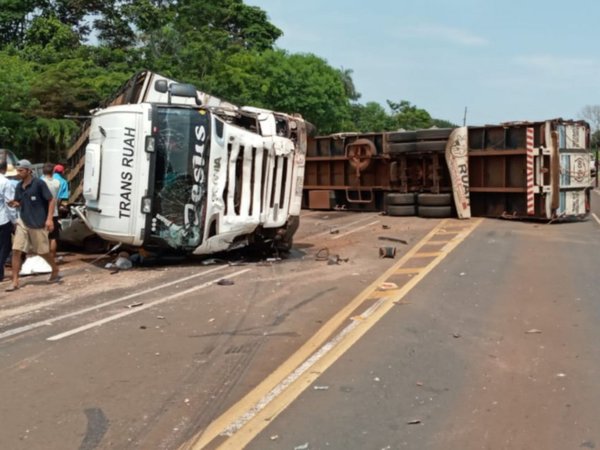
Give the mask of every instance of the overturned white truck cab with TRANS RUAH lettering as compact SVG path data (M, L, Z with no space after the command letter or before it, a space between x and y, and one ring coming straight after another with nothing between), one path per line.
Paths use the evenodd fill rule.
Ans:
M302 117L238 108L163 77L150 89L154 101L92 116L79 209L90 229L151 251L289 250L304 179Z

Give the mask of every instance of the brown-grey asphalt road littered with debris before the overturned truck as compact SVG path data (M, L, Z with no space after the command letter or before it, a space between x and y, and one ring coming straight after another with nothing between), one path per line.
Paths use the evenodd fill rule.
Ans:
M67 256L0 293L0 448L595 448L599 230L306 212L285 261Z

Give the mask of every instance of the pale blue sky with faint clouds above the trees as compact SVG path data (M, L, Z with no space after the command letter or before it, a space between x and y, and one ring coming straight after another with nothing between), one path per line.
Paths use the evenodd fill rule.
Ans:
M352 70L359 102L467 125L580 119L600 105L600 1L246 0L278 48Z

